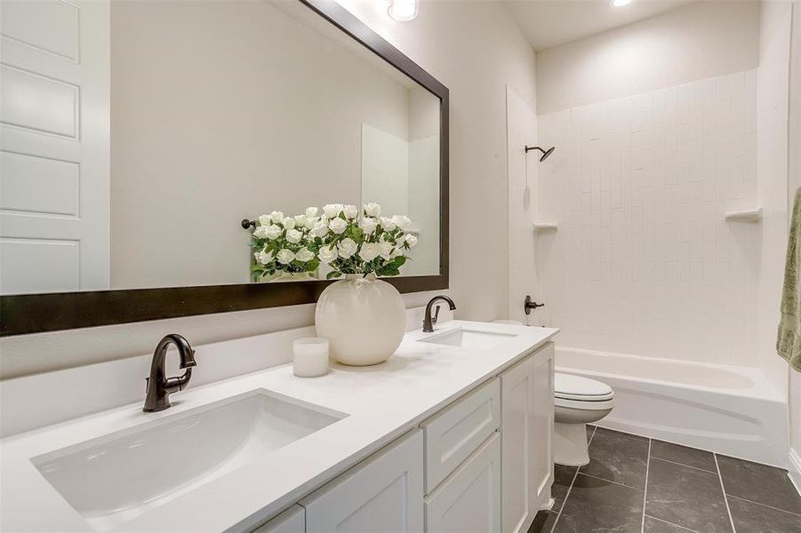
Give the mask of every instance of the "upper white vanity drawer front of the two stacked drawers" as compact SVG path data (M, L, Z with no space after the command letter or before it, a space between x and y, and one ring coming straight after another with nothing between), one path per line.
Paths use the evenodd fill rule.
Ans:
M497 378L423 422L426 493L500 426L501 384Z

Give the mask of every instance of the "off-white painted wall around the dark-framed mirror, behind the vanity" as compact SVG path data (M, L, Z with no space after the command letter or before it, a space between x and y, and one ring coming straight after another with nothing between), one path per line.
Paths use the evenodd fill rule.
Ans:
M505 316L509 279L505 85L515 87L533 107L531 47L499 4L424 3L420 16L409 23L389 20L380 3L343 0L343 4L450 89L450 292L460 318ZM425 304L430 296L405 295L406 306ZM147 354L158 338L173 331L199 345L313 321L314 306L308 305L2 338L0 378Z

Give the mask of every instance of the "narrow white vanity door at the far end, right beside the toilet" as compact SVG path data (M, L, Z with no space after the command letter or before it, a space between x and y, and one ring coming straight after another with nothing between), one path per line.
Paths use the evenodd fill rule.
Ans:
M533 489L534 513L549 505L554 482L554 343L533 358Z

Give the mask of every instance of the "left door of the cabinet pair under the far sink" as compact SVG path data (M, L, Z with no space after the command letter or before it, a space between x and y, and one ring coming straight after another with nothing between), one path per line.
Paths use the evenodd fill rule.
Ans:
M502 527L525 532L534 514L533 355L501 374Z

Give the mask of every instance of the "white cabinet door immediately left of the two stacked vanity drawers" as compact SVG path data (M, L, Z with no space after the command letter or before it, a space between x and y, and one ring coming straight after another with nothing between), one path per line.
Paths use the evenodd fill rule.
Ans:
M421 430L365 459L300 501L308 533L423 530Z

